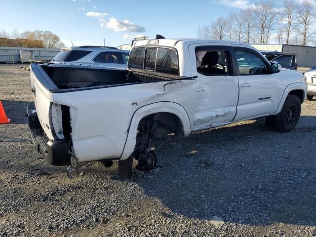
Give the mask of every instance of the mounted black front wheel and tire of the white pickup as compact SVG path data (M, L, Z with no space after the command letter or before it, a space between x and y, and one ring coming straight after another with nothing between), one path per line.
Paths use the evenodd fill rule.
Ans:
M282 110L275 116L276 131L289 132L296 126L301 115L301 101L295 95L288 95Z

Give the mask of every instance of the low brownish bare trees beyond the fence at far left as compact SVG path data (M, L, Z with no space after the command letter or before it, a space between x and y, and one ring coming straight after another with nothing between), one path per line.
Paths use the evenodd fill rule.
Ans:
M5 46L18 46L25 47L25 43L36 43L36 47L42 48L60 48L65 47L65 44L60 41L59 37L53 34L50 31L25 31L20 34L16 29L14 29L11 33L2 30L0 31L0 38L9 39L7 42L13 43L15 45L5 45ZM3 40L2 40L3 41ZM41 42L41 43L39 43ZM23 45L16 45L16 44Z

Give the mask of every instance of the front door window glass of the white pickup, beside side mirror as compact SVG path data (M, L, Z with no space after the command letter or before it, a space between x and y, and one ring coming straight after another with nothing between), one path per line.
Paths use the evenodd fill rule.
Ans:
M267 74L267 62L251 49L235 48L240 75Z

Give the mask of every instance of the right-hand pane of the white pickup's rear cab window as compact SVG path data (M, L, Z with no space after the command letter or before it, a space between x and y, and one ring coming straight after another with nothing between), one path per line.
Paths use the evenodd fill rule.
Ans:
M156 72L178 75L178 57L175 50L158 48Z

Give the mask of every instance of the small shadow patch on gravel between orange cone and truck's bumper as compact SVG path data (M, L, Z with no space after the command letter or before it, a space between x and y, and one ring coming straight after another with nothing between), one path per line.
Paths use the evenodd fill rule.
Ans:
M34 106L34 102L19 100L2 100L1 102L7 118L11 119L11 123L25 124L28 122L26 108L27 106Z

